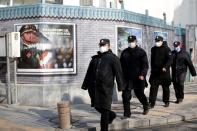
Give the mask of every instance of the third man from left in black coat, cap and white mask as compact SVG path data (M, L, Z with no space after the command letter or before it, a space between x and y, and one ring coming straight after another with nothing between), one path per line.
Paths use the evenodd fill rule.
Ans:
M155 46L151 49L151 75L150 75L150 107L154 108L159 85L163 88L164 107L169 106L171 84L170 66L172 64L172 53L169 47L163 45L163 37L156 36Z

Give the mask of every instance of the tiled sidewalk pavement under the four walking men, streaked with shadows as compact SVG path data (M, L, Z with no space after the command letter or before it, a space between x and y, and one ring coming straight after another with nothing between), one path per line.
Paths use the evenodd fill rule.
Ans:
M146 89L148 90L148 89ZM148 92L146 92L148 95ZM151 109L148 115L142 115L142 105L136 98L131 101L132 115L130 119L122 119L123 108L121 102L116 102L112 110L117 112L117 118L110 125L111 130L122 130L133 127L147 127L154 125L164 125L197 118L197 85L191 84L185 87L185 99L181 104L175 104L174 90L171 88L170 107L163 107L161 102L162 91L159 91L158 100L154 109ZM100 114L97 113L88 104L72 105L72 128L69 130L99 130ZM1 123L17 125L12 127L12 131L59 131L57 108L40 108L17 105L0 106L0 131L7 131L8 125ZM20 127L20 128L19 128ZM23 128L21 128L23 127ZM5 128L5 129L4 129ZM27 129L28 128L28 129ZM11 128L10 128L11 129ZM15 129L15 130L13 130Z

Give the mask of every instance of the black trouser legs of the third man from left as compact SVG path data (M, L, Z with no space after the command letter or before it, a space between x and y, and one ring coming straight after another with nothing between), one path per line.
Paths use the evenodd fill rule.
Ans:
M157 93L158 93L159 85L161 85L162 89L163 89L163 102L164 103L169 102L169 99L170 99L170 88L169 88L169 85L153 83L153 84L151 84L150 94L149 94L149 102L152 105L155 105L155 101L157 99Z

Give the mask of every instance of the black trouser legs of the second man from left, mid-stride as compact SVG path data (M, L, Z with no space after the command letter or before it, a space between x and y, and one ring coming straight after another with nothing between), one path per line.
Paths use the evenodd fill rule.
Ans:
M123 99L123 107L124 107L124 116L130 117L131 116L131 109L130 109L130 100L132 98L131 89L126 89L122 92L122 99ZM144 109L148 109L148 100L146 95L144 94L144 88L134 89L135 95L143 105Z

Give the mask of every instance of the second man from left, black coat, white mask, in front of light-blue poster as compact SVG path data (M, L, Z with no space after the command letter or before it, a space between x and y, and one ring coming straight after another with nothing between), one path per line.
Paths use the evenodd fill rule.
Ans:
M144 112L146 115L149 111L148 101L144 94L145 84L146 84L146 74L148 71L148 58L146 52L138 47L136 36L128 37L129 47L126 48L120 57L120 62L122 65L123 76L126 81L126 89L123 90L123 107L124 116L130 117L130 100L131 100L131 90L134 89L135 95L138 100L142 103Z

